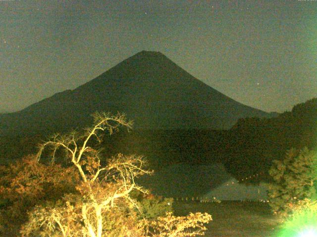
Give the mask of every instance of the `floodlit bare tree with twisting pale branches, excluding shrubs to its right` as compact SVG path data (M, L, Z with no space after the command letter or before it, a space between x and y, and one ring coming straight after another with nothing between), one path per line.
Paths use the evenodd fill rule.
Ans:
M146 193L147 190L135 183L135 178L149 174L144 169L145 160L140 156L117 155L109 160L105 166L101 165L100 151L89 146L92 138L101 142L102 132L112 134L119 125L131 127L123 115L110 116L109 114L94 114L94 125L85 130L83 134L71 132L67 135L56 134L48 142L40 146L37 154L38 160L43 151L50 148L53 151L53 159L56 151L63 149L66 158L78 169L82 182L77 186L78 195L66 196L66 206L62 208L41 208L33 212L33 218L29 227L34 225L46 225L46 232L60 232L63 237L89 236L102 237L106 212L116 206L116 201L125 201L132 207L137 207L136 202L129 197L132 190ZM119 200L119 199L124 200ZM129 204L127 204L129 205ZM78 228L70 228L77 226ZM32 228L31 228L32 227ZM24 232L24 234L30 234Z

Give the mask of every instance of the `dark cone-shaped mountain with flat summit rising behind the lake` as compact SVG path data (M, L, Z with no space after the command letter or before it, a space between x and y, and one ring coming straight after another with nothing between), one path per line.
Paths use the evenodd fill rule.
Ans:
M142 51L74 90L0 115L0 135L81 128L95 111L125 113L136 129L229 129L239 118L272 116L225 96L163 54Z

